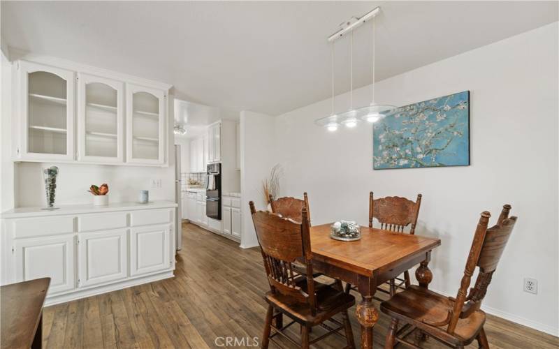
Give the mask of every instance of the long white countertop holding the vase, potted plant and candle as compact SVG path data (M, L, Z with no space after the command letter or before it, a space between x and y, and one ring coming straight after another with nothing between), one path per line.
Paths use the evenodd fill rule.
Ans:
M173 201L150 201L147 204L140 202L115 202L107 206L85 205L60 205L58 209L43 209L43 207L18 207L2 212L0 218L24 218L38 216L58 216L61 214L91 214L97 212L128 211L136 209L164 209L177 207Z

